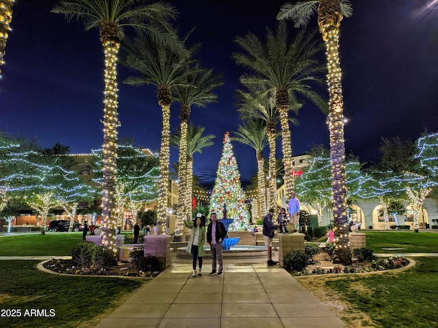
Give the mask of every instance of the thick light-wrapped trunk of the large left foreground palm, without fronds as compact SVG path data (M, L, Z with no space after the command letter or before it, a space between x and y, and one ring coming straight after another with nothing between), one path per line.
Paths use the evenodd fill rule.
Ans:
M102 245L114 245L116 230L116 158L117 158L117 72L116 61L120 43L103 39L105 51L105 99L103 100L103 186Z

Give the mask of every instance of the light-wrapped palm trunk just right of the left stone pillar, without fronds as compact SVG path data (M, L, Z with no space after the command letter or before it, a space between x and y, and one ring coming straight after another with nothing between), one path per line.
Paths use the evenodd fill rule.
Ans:
M187 120L181 120L181 138L179 139L179 167L178 167L178 207L177 222L175 223L175 236L183 234L183 219L187 213L185 208L186 177L187 177ZM190 218L186 218L190 219Z

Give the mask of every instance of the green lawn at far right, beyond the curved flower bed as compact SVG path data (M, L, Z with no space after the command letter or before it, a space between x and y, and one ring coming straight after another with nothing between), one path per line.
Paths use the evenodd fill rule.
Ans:
M438 253L438 233L413 231L363 231L367 247L375 253ZM383 248L403 248L388 250Z

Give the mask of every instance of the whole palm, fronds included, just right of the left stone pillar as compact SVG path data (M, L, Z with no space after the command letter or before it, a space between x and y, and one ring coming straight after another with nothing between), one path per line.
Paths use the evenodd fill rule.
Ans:
M187 176L187 130L188 120L192 105L205 107L210 102L217 102L218 96L212 93L216 87L222 85L220 75L215 75L213 70L203 70L198 64L194 68L188 68L189 73L185 75L184 84L175 87L175 100L181 103L179 118L181 119L181 142L179 143L179 170L178 170L178 205L177 222L175 224L175 236L181 236L183 232L183 217L191 217L191 210L185 208L185 200L191 197L189 189L185 187Z

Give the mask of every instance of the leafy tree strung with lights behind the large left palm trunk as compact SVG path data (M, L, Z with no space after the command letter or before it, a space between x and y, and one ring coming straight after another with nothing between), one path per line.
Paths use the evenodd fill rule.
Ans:
M96 173L93 181L101 183L102 150L93 150L93 153L92 165ZM116 163L116 225L122 226L125 209L130 209L135 215L142 204L157 199L159 168L157 156L149 150L134 147L132 140L118 144Z

